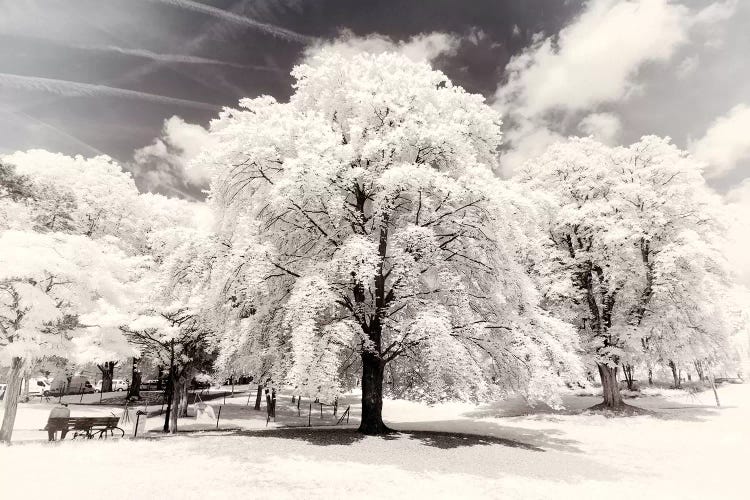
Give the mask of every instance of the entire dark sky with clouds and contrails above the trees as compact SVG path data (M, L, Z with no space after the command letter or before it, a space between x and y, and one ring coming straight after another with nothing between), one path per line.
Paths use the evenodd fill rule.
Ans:
M395 50L503 113L501 175L568 135L667 135L750 212L749 25L746 0L0 0L0 153L106 154L201 199L185 165L222 106L285 100L325 46Z

